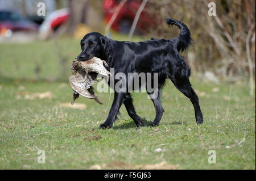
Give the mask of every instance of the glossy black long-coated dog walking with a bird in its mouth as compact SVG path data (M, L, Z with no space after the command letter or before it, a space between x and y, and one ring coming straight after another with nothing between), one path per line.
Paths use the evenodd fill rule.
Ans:
M170 40L152 39L141 42L115 41L97 32L88 33L81 40L82 52L77 57L78 61L87 61L92 57L105 60L109 68L114 68L115 73L158 73L157 98L151 99L155 106L156 116L151 123L158 125L163 115L163 107L160 102L160 91L166 78L170 78L175 87L187 96L195 109L196 123L203 123L203 115L199 106L199 99L189 82L190 69L184 57L179 54L191 44L191 35L188 27L177 20L166 19L170 25L175 24L180 29L180 35ZM127 77L127 76L126 76ZM153 81L153 80L152 80ZM116 83L116 81L115 81ZM149 94L149 93L148 93ZM135 124L144 126L144 121L137 115L133 105L133 99L129 92L114 93L114 100L108 118L100 128L111 128L119 108L125 104L126 110L135 121Z

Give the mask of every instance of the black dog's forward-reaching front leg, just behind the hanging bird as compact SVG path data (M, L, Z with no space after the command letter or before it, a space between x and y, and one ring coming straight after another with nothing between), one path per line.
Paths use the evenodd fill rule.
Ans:
M125 98L125 93L123 92L115 92L114 94L114 100L111 106L111 109L109 111L108 118L106 121L100 125L100 128L106 129L106 128L112 128L113 123L115 119L117 118L117 113L119 111L119 108L121 107L123 103L123 98Z

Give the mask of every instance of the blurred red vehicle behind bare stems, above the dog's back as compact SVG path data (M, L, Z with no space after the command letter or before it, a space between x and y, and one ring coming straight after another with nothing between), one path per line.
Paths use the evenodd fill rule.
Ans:
M104 0L103 10L104 10L104 19L106 22L112 18L114 14L115 7L119 5L119 0ZM128 0L125 5L119 11L117 18L112 24L112 28L115 31L121 33L129 33L131 25L133 24L134 17L136 12L139 9L142 1ZM140 34L143 30L146 30L147 27L153 26L151 22L151 17L146 11L142 11L139 18L135 33Z

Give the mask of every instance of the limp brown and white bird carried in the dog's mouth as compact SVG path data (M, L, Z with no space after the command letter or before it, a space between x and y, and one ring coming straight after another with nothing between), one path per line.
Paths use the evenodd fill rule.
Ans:
M88 61L79 62L77 58L71 64L72 76L69 77L69 83L74 91L73 100L75 102L79 95L85 98L94 99L97 103L102 104L97 96L94 95L93 84L97 83L97 74L106 76L109 79L109 71L105 69L104 65L108 66L104 60L93 57ZM88 91L86 91L88 90Z

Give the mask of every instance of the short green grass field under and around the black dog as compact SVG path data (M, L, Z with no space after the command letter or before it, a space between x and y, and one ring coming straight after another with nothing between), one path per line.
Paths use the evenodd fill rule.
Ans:
M71 102L72 90L67 81L51 78L61 78L63 70L70 75L80 51L78 40L60 45L64 68L53 41L0 44L0 169L138 169L161 162L176 169L255 169L255 96L246 82L213 85L192 78L203 125L196 125L192 104L167 81L159 127L136 129L122 106L113 128L102 130L113 94L109 105L109 93L97 93L103 106L86 98L76 100L86 105L81 110L60 106ZM37 81L36 64L42 65ZM52 98L32 97L47 91ZM153 120L147 95L133 98L138 115ZM37 163L38 150L45 151L46 164ZM216 151L215 164L208 163L209 150Z

